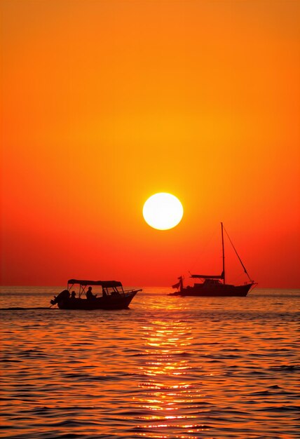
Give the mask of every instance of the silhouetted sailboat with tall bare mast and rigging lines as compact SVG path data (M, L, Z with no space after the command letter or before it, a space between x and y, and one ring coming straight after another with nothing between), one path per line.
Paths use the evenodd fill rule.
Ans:
M255 285L256 282L252 281L247 270L245 269L245 265L240 259L236 248L234 247L231 239L229 238L229 234L226 235L229 238L231 245L233 246L233 250L236 252L240 264L242 264L245 273L247 274L249 281L244 285L230 285L225 281L225 255L224 255L224 226L221 222L221 241L222 241L222 257L223 257L223 271L219 276L209 276L207 274L191 274L191 278L200 279L199 283L194 283L193 286L184 287L184 278L180 276L178 278L179 282L175 285L172 285L172 288L178 288L177 292L171 293L173 296L200 296L200 297L214 297L214 296L247 296L250 289ZM226 230L225 230L226 231Z

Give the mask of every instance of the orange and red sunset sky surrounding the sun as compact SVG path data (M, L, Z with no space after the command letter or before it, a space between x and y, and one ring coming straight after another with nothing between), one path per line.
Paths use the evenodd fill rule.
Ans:
M2 0L2 285L218 273L223 221L260 287L299 288L299 18L289 0ZM158 191L184 205L175 229L144 222Z

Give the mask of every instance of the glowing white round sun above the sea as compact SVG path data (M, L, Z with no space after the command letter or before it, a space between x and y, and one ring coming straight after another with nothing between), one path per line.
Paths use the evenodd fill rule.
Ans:
M175 195L166 192L154 194L144 203L144 220L154 229L172 229L179 224L183 215L182 203Z

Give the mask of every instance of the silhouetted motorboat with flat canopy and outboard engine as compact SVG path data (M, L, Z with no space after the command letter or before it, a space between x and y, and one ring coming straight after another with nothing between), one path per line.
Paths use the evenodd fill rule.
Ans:
M79 296L70 290L74 285L79 285ZM101 287L101 295L93 295L93 286ZM88 287L88 290L87 290ZM118 281L79 281L70 279L67 290L63 290L54 299L51 305L57 304L60 309L126 309L137 292L142 290L123 290L123 285Z

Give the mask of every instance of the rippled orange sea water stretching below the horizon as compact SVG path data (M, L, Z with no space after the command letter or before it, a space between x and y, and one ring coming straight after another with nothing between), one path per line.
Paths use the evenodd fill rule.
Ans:
M63 288L4 288L0 307ZM300 290L0 311L1 437L299 438Z

